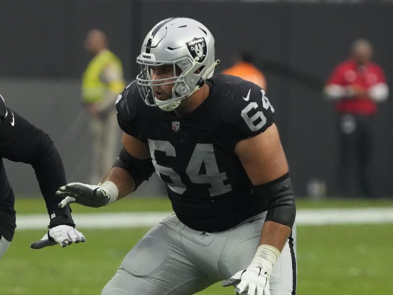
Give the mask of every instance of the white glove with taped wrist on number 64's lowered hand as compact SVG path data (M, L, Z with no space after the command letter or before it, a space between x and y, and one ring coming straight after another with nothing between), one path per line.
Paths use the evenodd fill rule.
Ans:
M236 294L270 295L269 279L274 263L280 256L280 251L271 245L260 245L250 266L236 272L232 277L223 281L221 286L236 285Z

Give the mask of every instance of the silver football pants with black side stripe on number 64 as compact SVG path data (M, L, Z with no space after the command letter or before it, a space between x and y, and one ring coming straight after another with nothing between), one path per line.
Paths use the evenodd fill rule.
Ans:
M152 228L127 254L101 295L191 295L249 266L266 212L224 231L185 226L176 215ZM223 287L224 288L224 287ZM228 288L228 294L234 290ZM296 290L296 227L270 278L272 295Z

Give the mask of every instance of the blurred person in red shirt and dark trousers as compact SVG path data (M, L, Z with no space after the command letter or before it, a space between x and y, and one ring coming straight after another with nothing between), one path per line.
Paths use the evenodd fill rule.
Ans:
M338 181L340 193L345 196L374 196L369 176L372 122L377 103L388 98L389 89L384 71L371 62L372 54L367 40L356 40L350 58L336 66L324 89L327 98L336 102L340 135Z

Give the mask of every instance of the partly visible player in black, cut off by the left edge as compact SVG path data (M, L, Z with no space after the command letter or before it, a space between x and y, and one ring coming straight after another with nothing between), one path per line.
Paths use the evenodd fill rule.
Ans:
M0 257L12 241L16 228L14 193L2 158L30 164L45 199L50 216L49 231L30 247L40 249L56 244L65 247L72 242L84 242L84 235L75 229L70 207L57 207L61 198L56 196L56 190L67 182L63 163L52 139L6 107L0 95Z

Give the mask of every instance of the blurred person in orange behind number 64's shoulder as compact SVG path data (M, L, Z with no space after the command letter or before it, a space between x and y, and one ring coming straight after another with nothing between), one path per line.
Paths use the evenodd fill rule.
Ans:
M265 75L253 64L253 57L243 53L235 58L234 64L225 69L223 74L237 76L258 85L266 91Z

